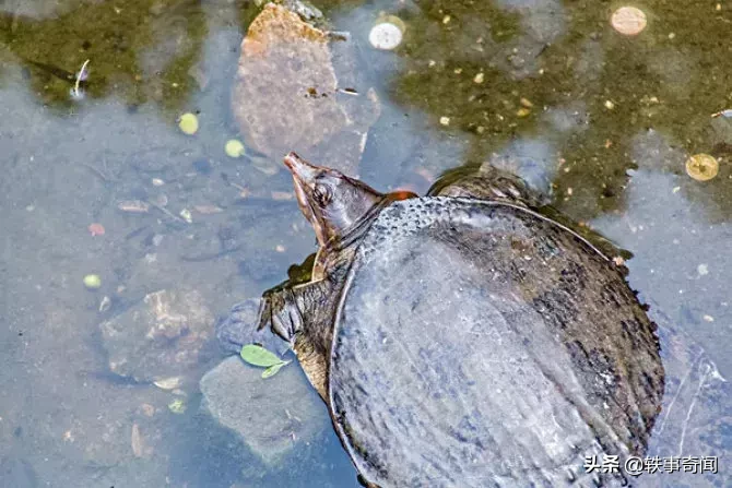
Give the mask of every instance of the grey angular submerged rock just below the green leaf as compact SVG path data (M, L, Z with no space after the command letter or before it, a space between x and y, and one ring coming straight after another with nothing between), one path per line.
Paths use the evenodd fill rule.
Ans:
M267 380L261 373L238 357L224 359L201 379L201 410L275 466L323 431L329 417L298 368Z

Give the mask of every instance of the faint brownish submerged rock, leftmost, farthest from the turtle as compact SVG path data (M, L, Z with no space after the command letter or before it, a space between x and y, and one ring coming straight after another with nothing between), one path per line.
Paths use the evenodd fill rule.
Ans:
M135 381L156 381L198 364L214 316L194 290L160 290L99 325L109 369Z

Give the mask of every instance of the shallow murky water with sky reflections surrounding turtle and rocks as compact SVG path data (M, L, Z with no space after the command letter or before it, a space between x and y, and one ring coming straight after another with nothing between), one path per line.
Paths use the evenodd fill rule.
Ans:
M732 107L730 5L645 2L637 37L613 32L612 2L316 5L362 44L382 102L364 180L424 192L462 164L517 171L629 250L630 284L653 319L732 378L732 119L710 117ZM367 44L380 11L408 25L397 51ZM110 372L102 347L99 322L151 291L194 288L224 313L314 250L294 201L271 198L292 191L284 168L261 170L279 162L223 152L231 138L247 141L229 92L256 12L233 0L0 2L3 486L358 486L327 427L307 453L243 473L236 443L197 414L198 379L224 356L213 340L186 372L182 415L167 407L172 392ZM86 59L76 99L73 74ZM177 128L185 111L199 116L194 136ZM711 181L686 175L696 153L718 157ZM120 212L127 200L158 206ZM92 223L105 234L92 236ZM84 288L88 273L98 290ZM689 454L732 449L732 397L719 384L718 452ZM730 462L684 483L729 486Z

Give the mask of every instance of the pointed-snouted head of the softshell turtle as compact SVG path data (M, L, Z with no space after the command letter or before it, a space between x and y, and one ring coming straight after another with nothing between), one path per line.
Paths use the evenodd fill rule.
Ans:
M287 154L284 160L293 174L297 203L312 225L320 246L342 236L386 198L341 171L312 165L295 153Z

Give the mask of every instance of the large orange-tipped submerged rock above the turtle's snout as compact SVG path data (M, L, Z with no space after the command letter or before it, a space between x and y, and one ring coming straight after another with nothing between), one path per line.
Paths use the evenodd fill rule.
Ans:
M296 150L356 172L369 127L380 114L358 80L354 41L268 3L249 26L232 109L248 144L279 159Z

